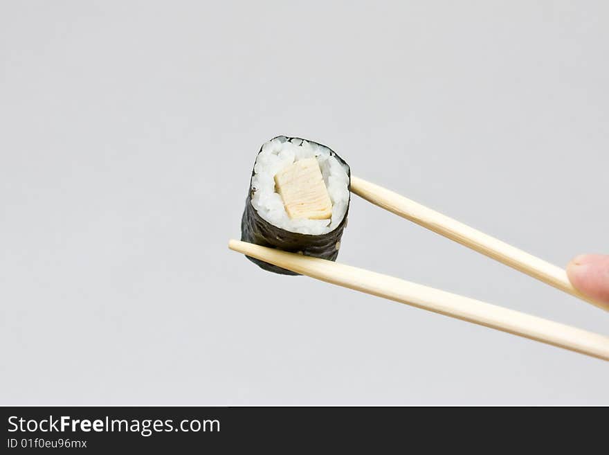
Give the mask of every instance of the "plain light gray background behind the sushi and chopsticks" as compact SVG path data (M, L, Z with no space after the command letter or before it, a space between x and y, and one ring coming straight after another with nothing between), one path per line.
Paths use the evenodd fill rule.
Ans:
M287 134L557 265L609 252L608 4L302 3L1 3L1 404L609 404L600 360L227 249ZM339 260L609 332L357 197Z

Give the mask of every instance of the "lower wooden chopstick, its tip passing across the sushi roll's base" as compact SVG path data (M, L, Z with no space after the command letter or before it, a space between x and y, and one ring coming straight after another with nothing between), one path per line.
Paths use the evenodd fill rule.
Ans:
M609 360L609 337L339 262L230 240L228 247L298 274Z

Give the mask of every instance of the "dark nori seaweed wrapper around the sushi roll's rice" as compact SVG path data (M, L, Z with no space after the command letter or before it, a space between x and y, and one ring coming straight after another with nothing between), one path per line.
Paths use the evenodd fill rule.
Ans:
M284 137L287 139L287 141L291 141L291 139L301 139L292 138L288 136L277 137ZM304 140L309 143L315 143L327 148L330 151L331 156L336 158L338 162L347 169L347 176L349 177L349 181L351 180L351 170L349 168L349 165L347 165L345 160L340 158L334 152L334 150L331 150L331 148L327 147L327 145L316 143L314 141L309 141L309 139ZM260 148L260 151L258 153L260 154L260 152L262 152L262 147ZM254 176L254 174L255 172L254 170L252 170L252 177ZM305 256L313 256L315 258L322 258L327 260L336 260L336 257L338 256L338 249L336 247L340 246L340 243L338 242L340 242L340 238L343 236L343 230L345 229L345 226L347 226L347 215L349 215L349 204L351 202L350 194L349 204L347 204L347 211L345 211L345 216L343 217L343 220L340 222L340 224L338 224L338 226L336 226L333 231L321 235L290 232L286 231L285 229L281 229L277 226L273 226L273 224L269 223L268 221L264 220L264 218L262 218L260 215L258 215L256 209L254 208L251 202L252 195L252 181L250 179L250 187L245 202L245 210L243 212L243 217L241 220L241 240L243 240L244 242L262 245L262 247L278 248L283 251L289 251L291 253L302 253ZM294 273L293 271L283 269L282 267L277 267L276 265L263 262L262 260L251 258L249 256L246 257L259 267L262 267L262 269L273 271L275 272L275 274L299 275Z

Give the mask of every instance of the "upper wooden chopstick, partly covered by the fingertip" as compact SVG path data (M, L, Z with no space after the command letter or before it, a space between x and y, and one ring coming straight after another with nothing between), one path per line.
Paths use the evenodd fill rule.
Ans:
M543 283L556 287L556 289L561 289L567 294L607 310L604 305L595 302L588 296L584 296L575 289L567 278L567 272L560 267L556 267L556 265L536 258L529 253L525 253L525 251L512 247L501 240L364 179L352 176L351 191L368 202L406 218L406 220L415 222L439 235L444 235L446 238L478 251L478 253L543 281Z

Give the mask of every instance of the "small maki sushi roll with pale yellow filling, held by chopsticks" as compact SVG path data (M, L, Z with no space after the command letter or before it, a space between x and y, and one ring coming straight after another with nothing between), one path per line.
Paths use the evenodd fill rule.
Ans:
M241 240L336 260L347 225L351 171L325 145L278 136L258 152L241 222ZM248 257L277 274L293 271Z

